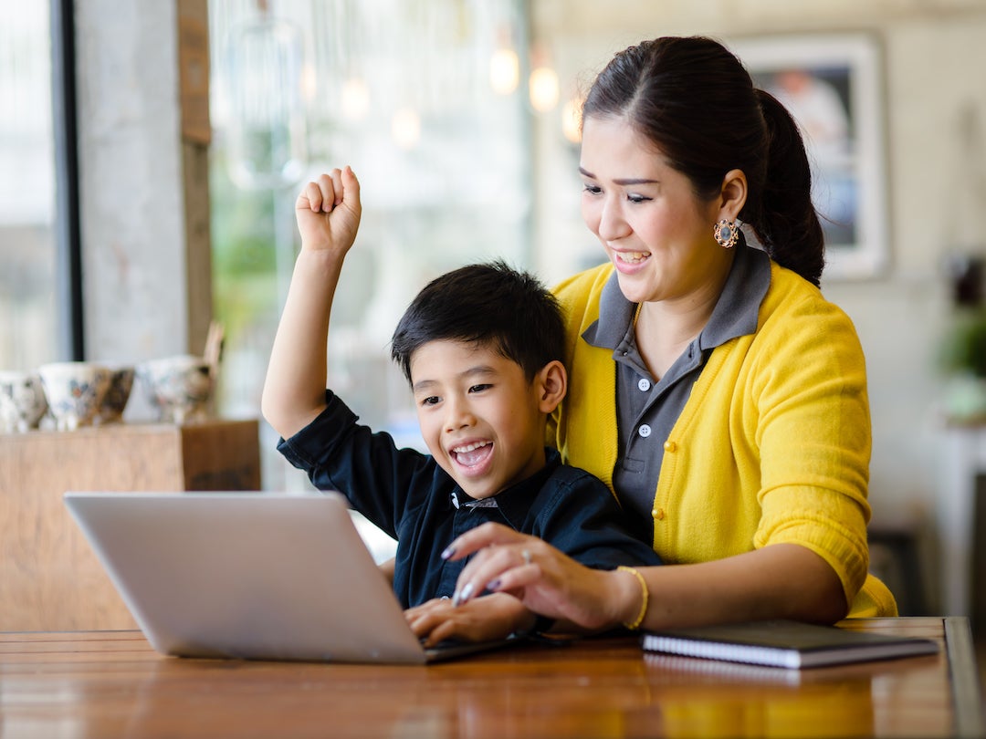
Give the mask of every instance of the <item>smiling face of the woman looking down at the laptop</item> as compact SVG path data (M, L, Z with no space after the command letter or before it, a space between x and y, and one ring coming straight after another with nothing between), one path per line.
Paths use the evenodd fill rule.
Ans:
M732 252L713 238L722 201L704 202L687 176L622 117L583 121L582 217L616 267L630 302L683 301L716 290Z

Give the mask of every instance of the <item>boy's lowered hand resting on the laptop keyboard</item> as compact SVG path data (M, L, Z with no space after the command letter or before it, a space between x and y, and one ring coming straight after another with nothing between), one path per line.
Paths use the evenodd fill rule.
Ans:
M470 600L460 607L448 598L434 598L404 611L411 631L425 638L425 646L449 638L488 641L523 632L534 623L534 615L517 598L493 593Z

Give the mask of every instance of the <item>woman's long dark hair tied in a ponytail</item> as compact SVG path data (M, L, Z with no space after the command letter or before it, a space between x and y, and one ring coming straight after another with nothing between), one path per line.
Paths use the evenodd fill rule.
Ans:
M775 261L818 284L824 237L801 133L721 43L666 36L619 52L583 105L583 117L593 116L626 116L702 199L719 192L726 172L742 169L748 192L740 220Z

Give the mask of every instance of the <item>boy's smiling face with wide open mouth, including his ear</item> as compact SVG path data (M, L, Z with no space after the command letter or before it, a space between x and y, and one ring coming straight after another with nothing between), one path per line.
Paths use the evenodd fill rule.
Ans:
M520 365L486 345L436 340L415 350L411 389L421 435L470 497L494 496L544 466L545 414L557 405L545 391L551 367L561 365L528 382Z

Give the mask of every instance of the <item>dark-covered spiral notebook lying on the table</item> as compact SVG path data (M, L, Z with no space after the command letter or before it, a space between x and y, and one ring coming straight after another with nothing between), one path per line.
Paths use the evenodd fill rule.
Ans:
M647 651L801 669L938 652L929 638L854 632L797 621L750 621L647 633Z

